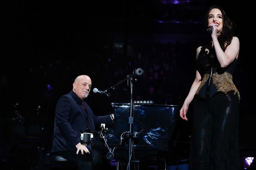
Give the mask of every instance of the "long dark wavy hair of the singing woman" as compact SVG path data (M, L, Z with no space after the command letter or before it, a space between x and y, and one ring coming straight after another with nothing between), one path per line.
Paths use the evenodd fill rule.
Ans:
M222 8L213 5L209 8L209 10L205 14L205 22L206 22L206 27L208 27L208 16L210 10L217 8L220 10L222 14L222 20L223 20L223 27L222 31L220 32L220 35L218 36L218 41L220 43L220 47L222 48L223 51L225 51L226 47L230 45L233 37L233 23L232 21L228 18L226 12L222 10Z

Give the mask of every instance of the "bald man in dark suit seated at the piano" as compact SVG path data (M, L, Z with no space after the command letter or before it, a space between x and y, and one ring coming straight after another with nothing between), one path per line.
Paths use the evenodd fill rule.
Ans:
M95 131L95 124L110 125L114 115L96 116L83 100L88 97L92 80L87 75L78 76L73 90L59 98L55 109L52 154L63 156L76 162L79 170L92 170L93 163L99 160L99 154L92 145L80 143L80 132Z

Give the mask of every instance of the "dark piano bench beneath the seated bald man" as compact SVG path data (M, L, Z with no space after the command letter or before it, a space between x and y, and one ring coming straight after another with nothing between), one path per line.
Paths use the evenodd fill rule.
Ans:
M63 156L46 153L44 155L46 170L76 170L76 164L65 159Z

